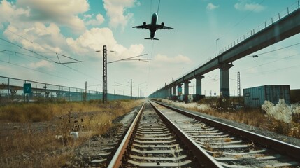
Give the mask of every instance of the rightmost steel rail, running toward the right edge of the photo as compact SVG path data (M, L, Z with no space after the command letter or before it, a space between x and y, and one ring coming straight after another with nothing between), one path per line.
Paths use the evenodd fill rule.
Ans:
M197 116L196 114L190 113L189 111L185 111L183 109L178 109L173 106L168 106L166 104L162 104L161 102L155 102L155 103L160 104L160 105L162 105L168 109L171 109L173 111L176 111L178 113L182 113L185 116L190 116L191 118L201 120L204 123L207 123L208 125L213 125L214 127L218 127L221 130L226 130L228 132L231 132L232 134L236 134L238 136L243 136L247 139L250 139L251 141L254 141L257 144L261 144L268 148L272 148L273 150L283 153L284 155L288 155L291 158L300 160L300 155L299 155L300 147L299 146L287 144L283 141L279 141L277 139L272 139L270 137L266 137L261 134L256 134L256 133L250 132L248 130L243 130L241 128L234 127L232 125L227 125L227 124L221 123L219 121L212 120L210 118L206 118L203 116Z

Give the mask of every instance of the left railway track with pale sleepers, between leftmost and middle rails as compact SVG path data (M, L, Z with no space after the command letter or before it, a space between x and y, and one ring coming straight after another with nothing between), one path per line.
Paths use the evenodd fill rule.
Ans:
M201 150L147 102L108 167L201 167ZM206 162L210 166L217 165L211 158Z

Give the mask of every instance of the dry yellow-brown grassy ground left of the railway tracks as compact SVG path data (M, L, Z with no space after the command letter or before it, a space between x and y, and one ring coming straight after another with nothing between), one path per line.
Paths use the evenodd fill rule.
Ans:
M1 123L51 120L52 124L36 130L36 123L32 123L32 127L29 124L26 129L20 127L1 136L0 167L62 167L76 146L94 134L103 134L110 127L117 127L112 120L140 104L141 101L117 101L108 104L66 102L1 106ZM78 123L74 124L76 120ZM80 138L76 141L69 136L74 128L80 131ZM64 138L56 139L57 135L64 135Z

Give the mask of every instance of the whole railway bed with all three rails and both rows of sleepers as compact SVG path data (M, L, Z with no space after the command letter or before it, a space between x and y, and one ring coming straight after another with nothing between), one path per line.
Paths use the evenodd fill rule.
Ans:
M300 167L298 146L150 103L108 167Z

